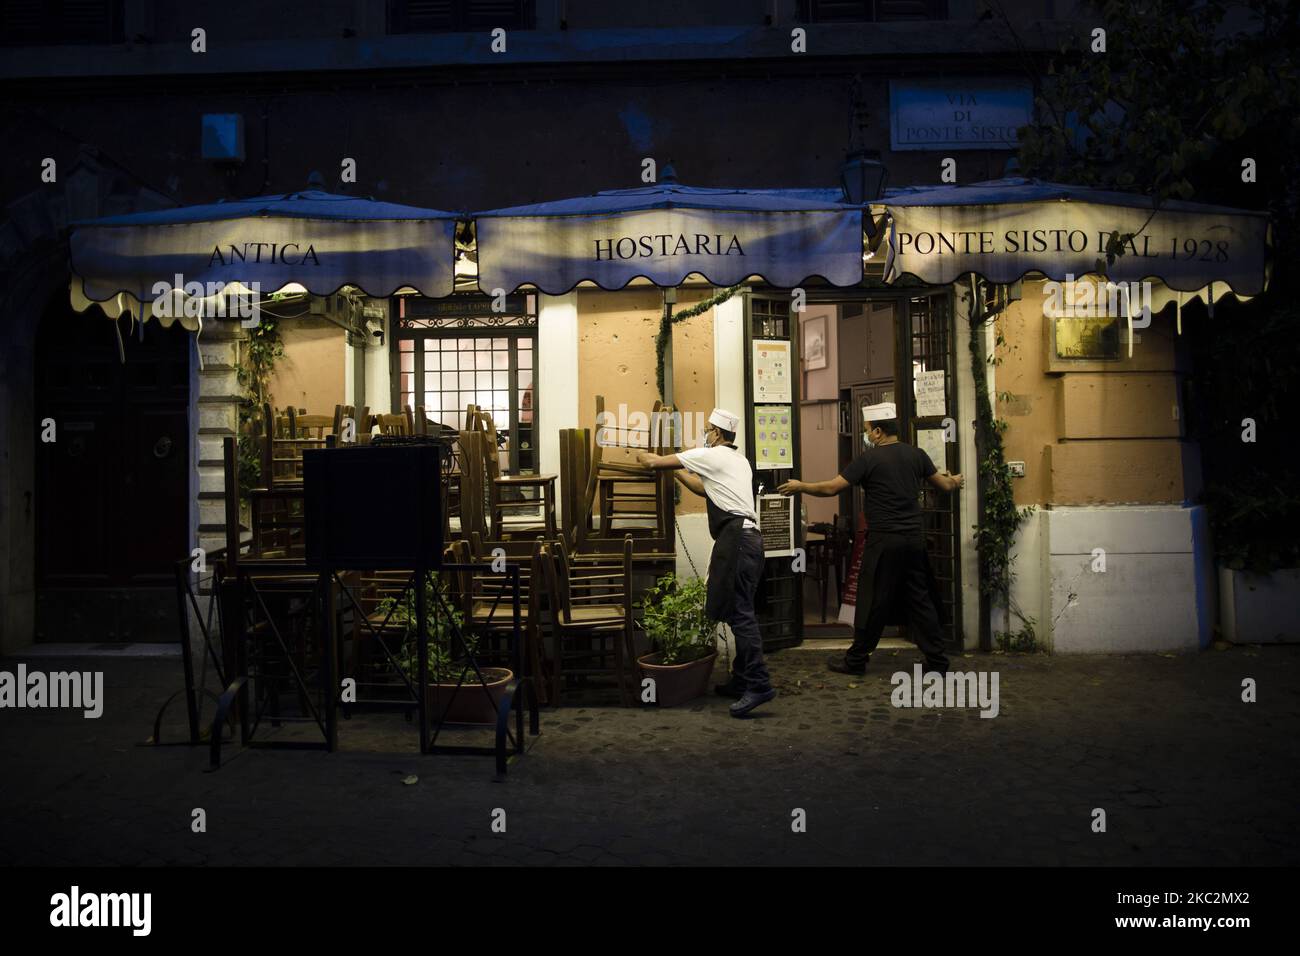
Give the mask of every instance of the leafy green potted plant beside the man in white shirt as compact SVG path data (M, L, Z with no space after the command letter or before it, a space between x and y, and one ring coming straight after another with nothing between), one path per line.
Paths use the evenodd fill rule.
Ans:
M718 659L718 624L705 614L705 581L664 575L646 592L641 615L654 650L637 665L642 678L654 680L655 702L671 708L706 693Z

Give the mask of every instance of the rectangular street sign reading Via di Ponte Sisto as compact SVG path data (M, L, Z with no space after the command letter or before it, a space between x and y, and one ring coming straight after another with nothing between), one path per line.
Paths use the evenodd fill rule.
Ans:
M1034 117L1034 91L1017 81L889 83L894 150L1014 150L1017 129Z

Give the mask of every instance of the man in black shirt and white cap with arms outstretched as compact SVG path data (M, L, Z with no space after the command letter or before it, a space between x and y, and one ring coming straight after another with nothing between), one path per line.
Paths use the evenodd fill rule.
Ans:
M907 632L926 656L926 670L948 671L939 622L939 589L930 567L920 522L920 483L941 492L962 486L961 475L940 473L930 455L898 441L897 410L892 402L862 410L867 450L827 481L790 480L783 494L838 494L862 485L866 496L867 540L858 570L858 600L853 614L853 646L829 661L841 674L866 671L871 652L887 623L904 617Z

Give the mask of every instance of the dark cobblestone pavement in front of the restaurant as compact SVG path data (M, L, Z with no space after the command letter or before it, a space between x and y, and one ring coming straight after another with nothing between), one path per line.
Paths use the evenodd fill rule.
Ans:
M824 658L771 656L780 696L748 721L718 697L543 711L506 782L488 758L412 753L391 714L343 722L341 753L204 773L205 748L143 745L178 661L42 658L104 670L107 706L0 711L0 864L1300 862L1300 648L956 661L998 672L996 719L890 706L911 649L866 678Z

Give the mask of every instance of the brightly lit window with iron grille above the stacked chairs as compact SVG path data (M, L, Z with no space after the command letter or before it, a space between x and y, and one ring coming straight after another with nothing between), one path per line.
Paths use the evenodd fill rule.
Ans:
M465 406L477 405L506 438L508 471L536 472L536 297L508 297L504 312L490 303L396 299L393 410L424 406L428 419L459 431Z

